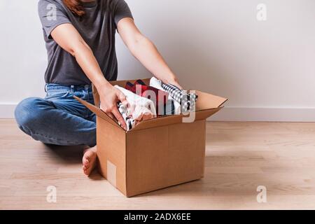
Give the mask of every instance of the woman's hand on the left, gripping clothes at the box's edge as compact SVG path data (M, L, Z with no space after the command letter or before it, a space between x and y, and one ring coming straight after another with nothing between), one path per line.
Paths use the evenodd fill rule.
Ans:
M101 87L99 92L99 98L101 101L101 110L104 111L111 118L116 118L123 129L127 130L127 125L121 113L118 111L118 102L122 102L126 107L128 107L128 102L125 94L113 87L110 83L106 86Z

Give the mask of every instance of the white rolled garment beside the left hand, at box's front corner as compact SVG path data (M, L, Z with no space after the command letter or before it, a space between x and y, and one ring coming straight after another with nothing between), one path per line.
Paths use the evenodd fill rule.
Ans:
M115 85L115 87L125 94L127 102L130 104L128 107L128 116L132 116L137 122L156 118L155 105L151 99L134 94L119 85Z

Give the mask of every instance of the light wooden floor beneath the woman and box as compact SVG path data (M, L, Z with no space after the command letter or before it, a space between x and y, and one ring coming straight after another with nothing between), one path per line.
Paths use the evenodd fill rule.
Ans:
M132 198L83 176L81 153L0 120L0 209L315 209L315 123L208 123L204 179ZM47 202L48 186L57 203ZM258 186L267 203L257 202Z

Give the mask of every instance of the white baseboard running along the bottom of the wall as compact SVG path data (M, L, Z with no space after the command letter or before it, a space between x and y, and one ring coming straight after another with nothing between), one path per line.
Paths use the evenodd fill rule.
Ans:
M16 104L0 104L0 118L14 118ZM315 108L225 107L209 120L315 122Z

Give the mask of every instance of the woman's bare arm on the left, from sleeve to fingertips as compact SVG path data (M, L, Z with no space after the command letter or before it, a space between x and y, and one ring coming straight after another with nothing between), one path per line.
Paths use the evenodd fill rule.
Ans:
M106 80L92 50L85 43L76 28L69 23L59 25L52 31L51 36L61 48L69 52L73 57L76 57L76 61L81 69L83 69L99 92L101 109L111 118L114 116L126 130L125 120L117 108L117 102L119 101L127 105L126 97L123 92L113 87Z

